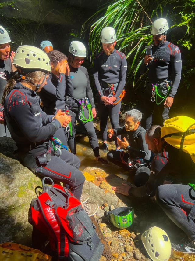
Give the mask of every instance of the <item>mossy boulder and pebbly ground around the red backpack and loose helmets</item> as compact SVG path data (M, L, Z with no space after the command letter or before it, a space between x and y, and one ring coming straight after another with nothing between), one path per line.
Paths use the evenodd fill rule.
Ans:
M98 202L100 206L95 218L112 251L112 261L149 261L139 235L151 226L164 229L171 240L182 237L182 231L166 217L154 198L143 202L116 195L111 187L124 182L121 177L127 174L115 165L95 162L87 139L82 136L78 139L78 156L86 177L83 191L90 194L90 202ZM110 143L109 146L114 145ZM34 189L41 186L41 180L20 164L12 148L11 138L0 138L0 243L10 241L30 246L32 227L28 223L28 209L32 198L36 197ZM133 225L125 230L117 229L106 218L107 211L120 206L131 206L135 211ZM101 261L104 260L102 256ZM170 260L192 261L195 256L173 252Z

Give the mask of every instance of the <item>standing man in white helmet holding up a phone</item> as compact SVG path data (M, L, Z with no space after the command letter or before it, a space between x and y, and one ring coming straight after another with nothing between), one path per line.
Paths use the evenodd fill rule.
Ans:
M151 54L146 54L140 65L140 73L147 69L147 82L143 97L140 97L140 109L143 112L141 125L148 130L152 125L155 105L161 110L158 124L169 119L169 110L181 79L182 60L179 47L166 40L168 22L159 18L152 25L153 45Z

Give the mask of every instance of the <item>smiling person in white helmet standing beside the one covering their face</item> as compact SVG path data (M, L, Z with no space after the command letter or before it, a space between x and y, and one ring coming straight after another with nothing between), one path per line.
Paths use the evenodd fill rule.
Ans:
M68 144L71 152L76 154L75 131L76 122L78 121L87 132L90 146L93 149L96 160L103 164L108 164L107 160L100 157L98 138L92 121L92 119L96 117L96 110L87 69L81 66L85 57L86 48L84 44L79 41L71 42L69 46L68 64L74 92L72 96L67 95L65 101L69 111L73 112L71 121L72 135L68 133Z

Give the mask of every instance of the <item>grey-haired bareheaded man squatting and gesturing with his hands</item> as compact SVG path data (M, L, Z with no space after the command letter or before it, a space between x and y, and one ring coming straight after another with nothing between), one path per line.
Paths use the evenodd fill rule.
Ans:
M112 163L131 170L135 173L134 183L137 187L146 184L150 176L151 151L148 150L145 141L146 130L139 124L142 118L142 113L138 110L126 112L125 125L121 128L108 130L108 137L112 135L124 134L124 141L117 138L118 144L123 149L127 150L111 150L107 154L107 158Z

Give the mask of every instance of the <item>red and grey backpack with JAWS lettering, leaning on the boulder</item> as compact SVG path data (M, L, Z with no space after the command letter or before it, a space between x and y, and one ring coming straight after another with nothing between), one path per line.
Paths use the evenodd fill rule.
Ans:
M52 186L45 186L45 179ZM51 249L58 253L57 260L99 261L103 244L79 200L51 178L44 177L42 186L43 193L31 202L29 222L40 236L48 237Z

